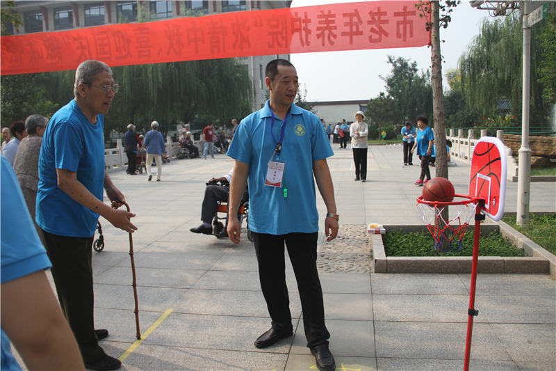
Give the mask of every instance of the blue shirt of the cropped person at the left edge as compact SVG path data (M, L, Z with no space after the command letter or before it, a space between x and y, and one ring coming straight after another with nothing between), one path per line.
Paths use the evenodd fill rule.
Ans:
M0 167L0 281L6 283L48 269L51 264L27 210L17 177L3 156L0 156ZM3 329L0 344L0 370L21 370Z

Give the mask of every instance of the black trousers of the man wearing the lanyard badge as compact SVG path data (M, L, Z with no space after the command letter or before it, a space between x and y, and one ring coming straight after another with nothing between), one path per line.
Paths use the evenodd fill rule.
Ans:
M284 242L288 248L303 310L307 347L327 344L330 334L325 326L325 308L317 272L317 237L314 233L268 235L253 232L259 280L268 313L275 329L291 329L290 299L286 286Z

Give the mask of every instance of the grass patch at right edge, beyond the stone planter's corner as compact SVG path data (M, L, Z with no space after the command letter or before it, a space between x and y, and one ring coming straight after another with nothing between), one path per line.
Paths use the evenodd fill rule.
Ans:
M554 232L556 214L530 214L529 226L527 227L518 226L515 215L504 216L502 221L523 233L535 244L546 248L550 253L556 255L556 234Z

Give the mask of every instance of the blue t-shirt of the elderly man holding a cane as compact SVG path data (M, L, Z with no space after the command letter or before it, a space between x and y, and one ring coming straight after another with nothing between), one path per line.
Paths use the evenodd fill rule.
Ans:
M53 235L91 237L99 214L58 188L56 168L74 171L93 196L104 199L104 115L92 124L72 100L50 119L39 156L37 224Z

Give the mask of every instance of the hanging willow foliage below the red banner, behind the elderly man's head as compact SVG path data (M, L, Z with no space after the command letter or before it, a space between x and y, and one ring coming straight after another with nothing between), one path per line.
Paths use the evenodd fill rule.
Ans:
M227 123L252 110L252 88L245 65L234 59L114 67L120 90L105 118L105 136L138 131L152 120L167 132L176 123ZM2 120L22 120L31 113L51 116L73 98L74 71L1 77Z

